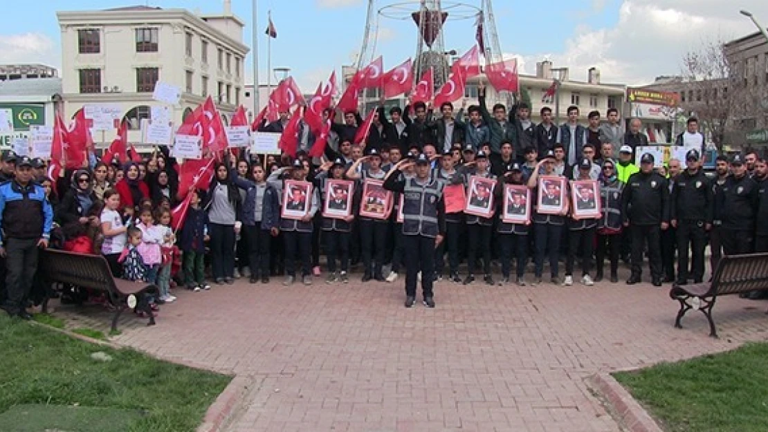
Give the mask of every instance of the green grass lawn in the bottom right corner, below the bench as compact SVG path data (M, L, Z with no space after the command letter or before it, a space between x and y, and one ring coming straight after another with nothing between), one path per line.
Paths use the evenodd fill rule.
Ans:
M669 432L768 430L768 343L614 378Z

